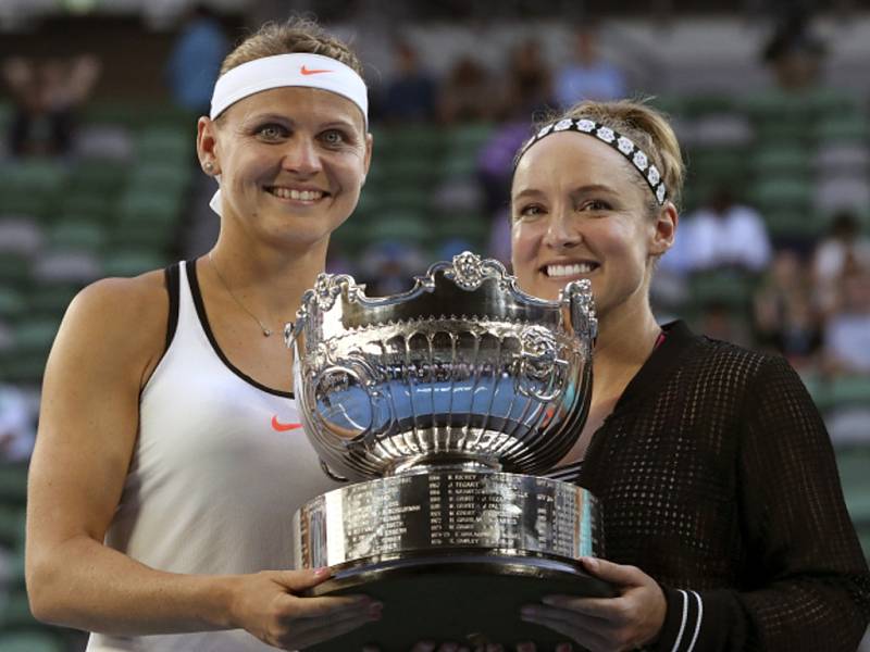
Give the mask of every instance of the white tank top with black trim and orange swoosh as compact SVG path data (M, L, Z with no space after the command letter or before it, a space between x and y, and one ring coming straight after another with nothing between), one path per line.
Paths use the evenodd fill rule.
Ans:
M173 266L167 283L170 343L140 397L139 434L105 543L173 573L291 568L294 512L338 485L321 471L298 427L293 394L260 385L226 360L209 327L195 264ZM87 647L122 650L274 648L243 630L95 634Z

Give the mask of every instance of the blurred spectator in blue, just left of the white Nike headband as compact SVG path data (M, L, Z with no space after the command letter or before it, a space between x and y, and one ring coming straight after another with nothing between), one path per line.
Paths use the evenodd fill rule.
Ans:
M166 80L178 106L208 115L221 63L229 51L215 13L196 3L187 13L166 62Z

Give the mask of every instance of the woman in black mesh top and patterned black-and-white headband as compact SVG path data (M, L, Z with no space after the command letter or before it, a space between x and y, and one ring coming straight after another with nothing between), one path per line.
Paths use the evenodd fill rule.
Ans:
M581 103L518 155L520 286L555 299L592 281L592 408L552 475L601 500L607 561L583 564L619 593L550 595L520 616L595 652L854 651L870 575L797 374L650 310L682 178L668 122L631 101Z

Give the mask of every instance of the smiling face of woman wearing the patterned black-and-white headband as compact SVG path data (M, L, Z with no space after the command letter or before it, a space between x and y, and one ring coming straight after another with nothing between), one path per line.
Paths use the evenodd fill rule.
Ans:
M584 134L543 138L520 159L511 188L513 272L526 292L554 300L592 281L596 312L648 310L654 260L672 243L673 206L650 216L652 195L610 146Z

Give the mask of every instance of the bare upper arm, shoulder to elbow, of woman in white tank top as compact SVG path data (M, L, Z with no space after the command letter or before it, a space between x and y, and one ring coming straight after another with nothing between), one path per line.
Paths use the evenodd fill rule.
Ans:
M103 539L133 455L141 387L164 348L163 278L157 271L97 281L63 317L29 468L30 556L75 536Z

